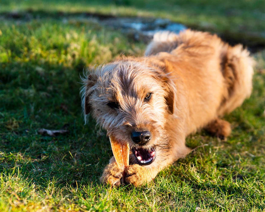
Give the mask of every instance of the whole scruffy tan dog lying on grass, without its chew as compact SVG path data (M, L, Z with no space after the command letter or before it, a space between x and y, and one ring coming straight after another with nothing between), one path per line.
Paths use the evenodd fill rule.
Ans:
M84 114L130 146L129 167L123 172L112 157L101 181L141 185L190 152L188 134L206 128L228 136L230 124L220 118L250 96L253 64L242 45L186 30L157 33L144 57L92 71L81 91Z

